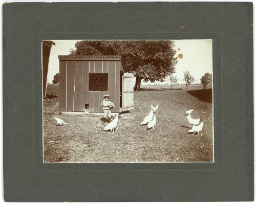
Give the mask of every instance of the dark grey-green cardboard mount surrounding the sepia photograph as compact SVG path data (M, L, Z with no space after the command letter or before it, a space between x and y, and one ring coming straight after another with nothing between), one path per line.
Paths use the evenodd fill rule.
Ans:
M133 13L135 7L143 12L128 19L120 15ZM118 14L112 18L116 26L102 24L103 12L92 20L95 8ZM229 10L220 14L226 8ZM209 14L209 9L214 12ZM241 13L232 16L237 10ZM39 11L44 15L31 17ZM69 20L63 17L67 11ZM161 20L158 28L152 29L158 24L149 11ZM199 11L200 23L196 21ZM168 19L175 19L179 12L188 13L190 19L181 15L170 23ZM145 24L138 21L144 15ZM40 28L36 22L45 18L55 20ZM61 18L67 27L58 22ZM82 27L86 23L83 18L92 21ZM212 18L218 21L213 22ZM25 20L26 24L22 24ZM123 27L119 22L125 20L127 25ZM135 21L140 29L131 23ZM17 35L14 29L23 35ZM51 29L53 32L49 32ZM44 39L212 39L215 162L43 164L41 41ZM233 50L230 40L236 40L239 51ZM244 61L245 70L232 66ZM4 4L3 112L5 201L252 201L252 3ZM245 136L241 137L241 133Z

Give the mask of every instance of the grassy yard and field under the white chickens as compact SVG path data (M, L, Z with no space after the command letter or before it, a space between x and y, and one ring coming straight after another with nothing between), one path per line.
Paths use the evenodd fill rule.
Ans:
M200 85L199 85L200 86ZM200 89L198 89L200 88ZM49 91L49 90L48 90ZM142 89L134 93L134 110L121 114L115 132L105 132L100 116L58 112L58 98L44 99L44 162L212 162L211 88ZM140 122L159 105L154 130ZM202 134L188 134L185 111L202 117ZM67 125L57 126L54 117Z

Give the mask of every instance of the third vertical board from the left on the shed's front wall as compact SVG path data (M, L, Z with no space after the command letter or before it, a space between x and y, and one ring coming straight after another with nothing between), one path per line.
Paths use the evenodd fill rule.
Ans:
M75 61L75 94L74 94L74 111L83 111L81 109L82 94L82 61Z

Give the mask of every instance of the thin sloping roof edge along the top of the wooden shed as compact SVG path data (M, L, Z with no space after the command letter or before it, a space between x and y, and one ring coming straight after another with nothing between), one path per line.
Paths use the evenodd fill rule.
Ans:
M120 55L82 55L82 56L70 56L70 55L58 55L59 60L92 60L92 61L121 61L120 70L124 72L124 66L122 57Z

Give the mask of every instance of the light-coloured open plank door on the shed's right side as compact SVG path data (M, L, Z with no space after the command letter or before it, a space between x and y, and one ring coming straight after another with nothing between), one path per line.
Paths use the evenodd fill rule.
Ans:
M133 109L134 74L123 73L123 111Z

